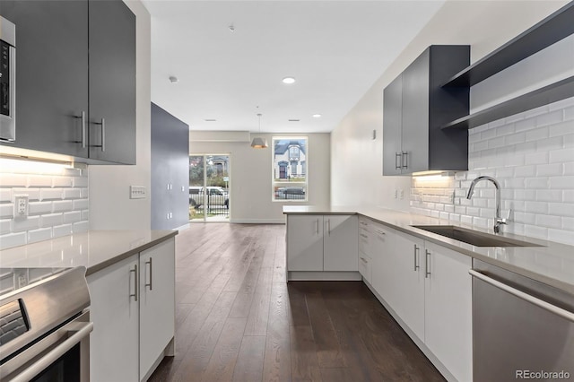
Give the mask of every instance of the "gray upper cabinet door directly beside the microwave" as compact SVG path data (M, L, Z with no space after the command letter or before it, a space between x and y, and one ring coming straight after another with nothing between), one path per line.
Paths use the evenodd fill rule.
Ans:
M3 0L0 13L16 25L13 145L86 158L88 2Z

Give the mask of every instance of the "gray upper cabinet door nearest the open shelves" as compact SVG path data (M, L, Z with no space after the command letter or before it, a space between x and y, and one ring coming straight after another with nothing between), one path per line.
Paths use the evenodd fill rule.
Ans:
M427 49L403 72L403 172L429 169L429 56Z

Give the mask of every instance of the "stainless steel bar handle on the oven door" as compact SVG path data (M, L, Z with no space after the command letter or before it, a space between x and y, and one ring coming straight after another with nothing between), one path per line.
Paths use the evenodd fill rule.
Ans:
M42 370L47 369L52 363L54 363L58 358L63 356L66 352L72 349L76 344L82 342L83 338L90 335L93 330L92 322L74 322L65 326L65 329L69 333L74 333L70 335L63 343L60 343L48 352L46 355L42 356L39 360L32 363L30 367L27 367L22 371L22 373L16 375L11 381L13 382L24 382L29 381L31 378L36 377Z

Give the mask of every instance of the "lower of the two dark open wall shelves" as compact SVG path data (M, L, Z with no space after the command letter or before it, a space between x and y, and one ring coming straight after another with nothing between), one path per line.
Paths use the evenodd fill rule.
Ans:
M469 116L458 118L455 121L441 126L441 129L473 128L482 126L503 117L509 117L539 106L548 105L557 100L574 97L574 76L554 82L543 88L530 91L515 99L507 100L488 109L483 109Z

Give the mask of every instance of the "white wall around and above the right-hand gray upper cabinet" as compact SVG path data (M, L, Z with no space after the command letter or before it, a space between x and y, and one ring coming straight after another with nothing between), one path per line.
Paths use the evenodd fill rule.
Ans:
M490 53L559 9L567 1L448 1L396 57L331 135L331 201L334 205L383 206L409 211L410 177L382 176L383 90L432 44L469 44L471 61ZM514 74L517 75L517 74ZM490 89L473 91L484 103ZM516 91L516 89L513 89ZM377 139L372 140L372 131ZM352 163L350 165L349 163ZM404 198L394 198L395 189ZM400 193L399 193L400 195Z

